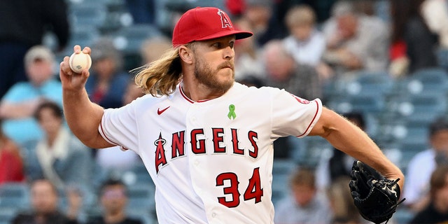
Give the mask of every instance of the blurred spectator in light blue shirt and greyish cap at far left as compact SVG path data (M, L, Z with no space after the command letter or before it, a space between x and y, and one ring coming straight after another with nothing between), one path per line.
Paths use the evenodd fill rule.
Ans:
M25 55L26 82L16 83L0 102L3 131L20 146L28 146L43 137L33 118L38 104L50 100L62 105L62 85L56 79L55 56L43 46L32 47Z

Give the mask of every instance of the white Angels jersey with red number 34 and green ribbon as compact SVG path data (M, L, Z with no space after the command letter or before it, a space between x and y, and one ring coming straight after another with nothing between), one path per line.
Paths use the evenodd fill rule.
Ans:
M235 83L193 102L180 86L106 109L99 126L106 141L140 155L156 186L158 221L273 223L273 141L306 136L321 101Z

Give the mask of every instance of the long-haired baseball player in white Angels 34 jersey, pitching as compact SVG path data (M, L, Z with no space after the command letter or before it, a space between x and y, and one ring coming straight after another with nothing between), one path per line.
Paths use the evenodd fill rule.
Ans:
M272 142L290 135L324 137L403 180L365 132L319 99L236 83L235 40L249 36L219 8L188 10L174 27L172 50L135 77L147 94L118 109L90 102L89 71L74 73L65 57L66 121L87 146L140 155L156 186L159 223L273 223Z

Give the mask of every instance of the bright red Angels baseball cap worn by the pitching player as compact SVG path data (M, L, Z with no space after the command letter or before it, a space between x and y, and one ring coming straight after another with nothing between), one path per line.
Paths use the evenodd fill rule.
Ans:
M173 46L193 41L205 41L235 34L237 39L247 38L250 31L236 30L229 16L214 7L196 7L184 13L173 31Z

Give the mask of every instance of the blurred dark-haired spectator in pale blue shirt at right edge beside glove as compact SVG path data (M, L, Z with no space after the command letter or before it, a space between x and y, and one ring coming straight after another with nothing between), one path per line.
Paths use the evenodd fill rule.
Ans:
M430 175L437 165L448 164L448 118L437 118L429 125L430 148L409 161L403 197L412 211L421 211L429 202Z

